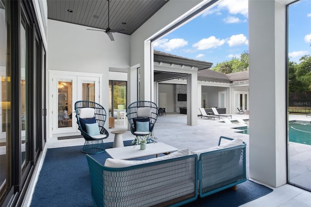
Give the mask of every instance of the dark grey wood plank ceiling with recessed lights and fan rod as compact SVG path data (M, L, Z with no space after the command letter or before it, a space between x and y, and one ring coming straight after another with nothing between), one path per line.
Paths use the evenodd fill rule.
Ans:
M98 29L108 27L107 0L47 0L47 2L49 19ZM120 33L132 35L167 2L168 0L111 0L109 26L111 29L125 28L125 31Z

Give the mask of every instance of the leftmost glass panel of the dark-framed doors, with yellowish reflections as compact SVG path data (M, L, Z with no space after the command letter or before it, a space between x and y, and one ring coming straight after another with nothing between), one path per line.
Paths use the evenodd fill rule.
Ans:
M10 3L5 3L0 1L0 198L11 185Z

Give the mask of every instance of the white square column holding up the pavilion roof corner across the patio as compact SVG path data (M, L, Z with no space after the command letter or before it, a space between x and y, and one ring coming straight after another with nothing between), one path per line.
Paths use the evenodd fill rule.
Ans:
M192 73L187 75L187 125L198 125L198 75Z

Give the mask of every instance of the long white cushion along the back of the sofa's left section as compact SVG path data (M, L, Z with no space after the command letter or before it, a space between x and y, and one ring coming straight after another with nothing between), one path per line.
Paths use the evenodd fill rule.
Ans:
M190 155L190 151L188 149L180 149L169 155L155 157L155 158L146 159L146 160L123 160L123 159L107 158L104 166L109 167L109 168L124 168L124 167L133 166L133 165L140 165L140 164L156 162L160 160L172 159L174 157L185 156L185 155Z

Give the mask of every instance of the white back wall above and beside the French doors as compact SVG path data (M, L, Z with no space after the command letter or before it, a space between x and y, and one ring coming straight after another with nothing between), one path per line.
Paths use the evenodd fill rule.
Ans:
M100 103L108 109L109 75L114 76L109 68L129 68L130 36L114 33L115 41L110 41L104 32L51 19L48 28L47 69L103 74Z

